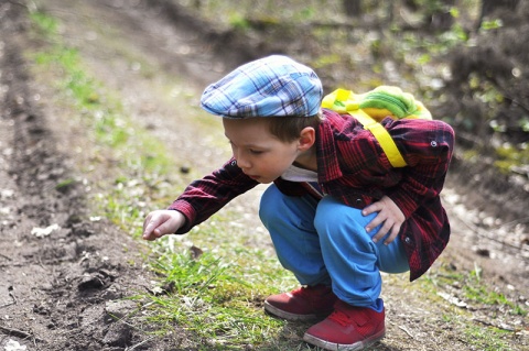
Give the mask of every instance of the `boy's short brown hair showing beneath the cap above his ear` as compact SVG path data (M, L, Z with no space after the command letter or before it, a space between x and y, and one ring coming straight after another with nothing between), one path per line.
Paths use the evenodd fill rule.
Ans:
M322 112L317 112L310 117L267 117L269 121L270 133L282 142L291 142L300 138L301 131L305 127L312 127L317 130L317 125L322 122Z

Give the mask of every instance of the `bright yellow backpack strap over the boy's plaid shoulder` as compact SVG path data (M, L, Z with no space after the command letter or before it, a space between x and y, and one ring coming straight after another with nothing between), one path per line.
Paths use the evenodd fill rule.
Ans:
M382 124L375 121L369 114L363 110L348 111L350 116L355 117L365 129L370 131L373 135L377 139L380 147L386 153L386 156L389 160L389 163L393 167L406 167L407 163L402 155L399 152L399 149L395 144L393 139L389 135L386 128Z

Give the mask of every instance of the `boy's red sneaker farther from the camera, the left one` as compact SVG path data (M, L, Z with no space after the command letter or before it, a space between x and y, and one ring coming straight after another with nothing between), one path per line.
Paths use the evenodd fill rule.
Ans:
M287 320L313 320L331 315L337 300L330 286L307 286L269 296L264 310Z

